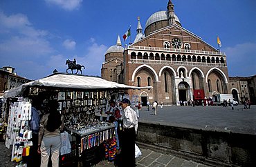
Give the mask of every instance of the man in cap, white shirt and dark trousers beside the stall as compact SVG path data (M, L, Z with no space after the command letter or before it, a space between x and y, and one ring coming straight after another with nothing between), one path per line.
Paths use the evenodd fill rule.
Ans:
M122 166L136 166L135 140L138 129L138 118L136 112L129 106L129 99L122 99L123 109L123 133L122 133Z

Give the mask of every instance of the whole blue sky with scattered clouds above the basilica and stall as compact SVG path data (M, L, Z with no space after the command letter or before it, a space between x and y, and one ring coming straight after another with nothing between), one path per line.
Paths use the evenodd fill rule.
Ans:
M256 1L172 0L183 28L226 52L230 77L256 75ZM100 76L104 52L116 45L137 17L145 28L167 0L1 0L0 67L12 66L21 77L39 79L66 59L86 66L85 75ZM133 39L134 40L134 39ZM124 45L124 41L122 41Z

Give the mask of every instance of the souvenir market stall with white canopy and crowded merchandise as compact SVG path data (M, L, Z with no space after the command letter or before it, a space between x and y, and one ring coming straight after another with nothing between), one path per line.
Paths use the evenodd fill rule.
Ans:
M21 161L33 146L29 127L32 101L41 104L41 112L47 110L48 101L58 101L65 129L75 141L75 157L80 157L113 137L115 126L102 119L109 101L121 100L127 89L141 88L57 72L9 90L4 95L9 104L6 147L12 146L12 161Z

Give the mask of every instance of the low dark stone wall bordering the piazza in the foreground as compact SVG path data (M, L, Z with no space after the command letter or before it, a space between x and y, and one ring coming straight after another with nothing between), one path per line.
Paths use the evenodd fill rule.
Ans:
M139 144L213 166L255 166L256 135L139 122Z

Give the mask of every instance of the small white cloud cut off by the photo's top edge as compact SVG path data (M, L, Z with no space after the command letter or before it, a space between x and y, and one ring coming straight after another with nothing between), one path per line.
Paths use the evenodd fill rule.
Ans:
M78 9L82 3L82 0L45 0L47 3L60 6L64 10Z

